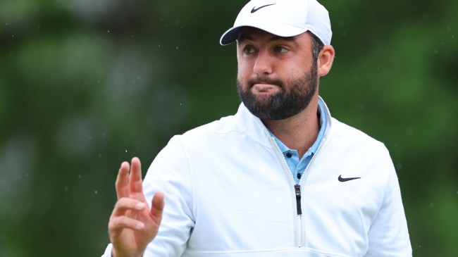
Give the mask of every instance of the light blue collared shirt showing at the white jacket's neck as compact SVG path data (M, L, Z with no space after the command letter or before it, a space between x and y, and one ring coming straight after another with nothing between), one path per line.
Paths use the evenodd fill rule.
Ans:
M311 158L314 156L316 151L318 150L318 146L320 146L321 141L323 140L323 135L326 130L326 123L328 122L327 117L326 117L326 111L324 111L324 106L323 104L318 101L318 115L320 115L320 132L318 132L318 137L316 137L316 141L314 144L311 145L309 150L307 150L306 153L304 153L304 156L302 156L302 159L299 160L299 154L297 153L296 149L290 149L287 147L283 142L280 141L272 132L269 130L271 133L271 136L273 139L278 144L278 147L280 147L280 151L282 151L283 156L285 156L286 163L290 167L290 171L292 173L292 177L295 179L296 184L299 184L299 180L302 177L302 173L304 173L305 168L307 168L307 165L309 165Z

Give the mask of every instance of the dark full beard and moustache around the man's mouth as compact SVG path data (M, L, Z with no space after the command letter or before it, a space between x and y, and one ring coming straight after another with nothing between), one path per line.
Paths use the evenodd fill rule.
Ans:
M309 106L318 87L317 78L318 67L314 62L308 73L299 78L290 78L286 84L282 80L273 80L266 75L249 80L246 85L237 78L237 92L240 101L261 120L284 120L304 111ZM256 96L251 89L254 84L259 83L275 84L280 87L280 92L263 98Z

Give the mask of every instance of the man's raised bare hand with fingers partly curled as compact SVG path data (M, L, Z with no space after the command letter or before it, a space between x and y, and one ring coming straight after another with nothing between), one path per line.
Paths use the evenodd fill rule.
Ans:
M116 194L118 201L109 221L109 236L113 244L111 254L113 257L142 256L159 230L163 194L154 194L150 209L143 194L140 159L136 157L132 158L131 166L128 162L121 163L116 178Z

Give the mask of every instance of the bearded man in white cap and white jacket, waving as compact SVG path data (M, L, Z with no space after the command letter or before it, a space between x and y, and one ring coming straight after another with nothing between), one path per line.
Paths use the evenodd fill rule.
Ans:
M237 114L121 164L104 256L411 256L388 151L318 96L331 35L316 0L242 8Z

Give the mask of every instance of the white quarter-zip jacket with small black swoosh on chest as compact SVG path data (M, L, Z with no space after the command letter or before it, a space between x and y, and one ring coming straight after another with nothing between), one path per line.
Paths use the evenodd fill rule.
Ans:
M173 137L143 182L149 202L156 191L166 199L144 256L411 256L387 149L323 105L328 127L299 184L243 104Z

